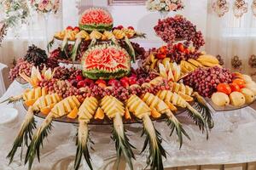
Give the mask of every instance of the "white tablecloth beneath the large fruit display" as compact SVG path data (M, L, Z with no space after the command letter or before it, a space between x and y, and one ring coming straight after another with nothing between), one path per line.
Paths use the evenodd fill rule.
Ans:
M20 94L23 89L18 82L13 82L2 99ZM9 106L12 107L12 105ZM25 116L25 110L22 105L15 104L13 106L19 111L18 120L12 124L0 126L0 170L26 169L23 162L20 162L19 152L10 166L8 166L8 160L5 158ZM204 134L201 134L198 127L189 122L186 115L178 116L191 138L191 141L184 139L181 150L179 150L177 136L173 133L172 138L169 137L170 130L165 122L154 122L154 126L160 131L165 140L163 146L168 153L167 159L164 159L165 167L256 161L256 112L247 107L238 112L236 111L238 119L229 117L230 114L234 113L234 111L214 113L215 127L212 129L208 140ZM38 125L42 122L39 118L36 120ZM235 126L230 121L235 122ZM133 163L134 167L135 169L143 169L146 155L139 155L144 139L140 137L142 126L134 124L125 126L125 128L131 139L131 144L137 147L137 150L134 150L137 158ZM75 133L76 127L73 125L54 122L51 134L48 139L44 140L41 162L38 163L38 160L35 159L33 169L73 169L76 151ZM113 169L116 157L114 143L110 136L111 126L90 126L90 137L95 142L93 145L95 150L90 150L94 169ZM82 166L84 167L81 167L81 169L87 169L85 168L85 162L83 162ZM125 164L122 161L119 169L125 169Z

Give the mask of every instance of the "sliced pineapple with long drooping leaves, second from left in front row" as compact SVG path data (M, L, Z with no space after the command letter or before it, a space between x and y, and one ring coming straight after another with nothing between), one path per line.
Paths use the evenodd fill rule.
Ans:
M32 168L32 163L35 156L38 156L40 161L40 146L43 146L44 139L49 135L52 129L53 118L58 118L67 115L73 111L76 107L79 107L80 102L75 96L69 96L66 99L62 99L50 110L48 116L44 119L44 122L38 127L37 132L33 135L32 141L26 151L25 164L28 161L28 169Z

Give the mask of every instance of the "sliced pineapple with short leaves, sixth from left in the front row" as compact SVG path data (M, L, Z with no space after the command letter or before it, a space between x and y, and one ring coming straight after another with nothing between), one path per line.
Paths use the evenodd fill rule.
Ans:
M154 94L147 93L143 96L142 99L151 108L151 110L156 109L156 111L158 111L160 114L166 114L168 118L167 124L171 128L170 136L172 136L173 131L176 130L180 148L181 148L183 144L183 135L185 135L188 139L190 138L188 133L186 133L185 130L183 129L182 124L178 122L177 118L172 114L172 111L170 110L168 105L166 105L166 103L163 100L161 100L159 97L155 96Z

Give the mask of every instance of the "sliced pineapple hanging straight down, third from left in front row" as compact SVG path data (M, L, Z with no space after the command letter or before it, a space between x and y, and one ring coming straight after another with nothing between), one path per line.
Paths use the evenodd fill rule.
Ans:
M96 112L98 107L98 101L94 97L84 99L83 104L79 107L79 132L77 137L77 152L74 162L74 169L78 170L81 162L82 155L87 162L90 169L92 169L90 163L90 154L88 150L89 130L88 123Z

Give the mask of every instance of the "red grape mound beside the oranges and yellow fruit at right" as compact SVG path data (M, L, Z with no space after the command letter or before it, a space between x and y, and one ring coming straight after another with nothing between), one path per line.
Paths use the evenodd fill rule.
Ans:
M232 74L230 71L218 66L196 69L183 78L185 85L193 88L202 96L209 98L216 92L219 83L230 83L231 81Z

